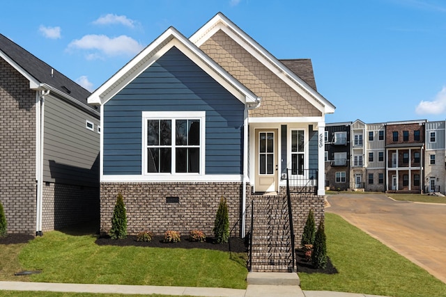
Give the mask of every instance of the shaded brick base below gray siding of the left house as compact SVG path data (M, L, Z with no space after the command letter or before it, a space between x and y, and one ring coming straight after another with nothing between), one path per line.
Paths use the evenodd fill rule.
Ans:
M99 188L43 184L42 231L99 220Z

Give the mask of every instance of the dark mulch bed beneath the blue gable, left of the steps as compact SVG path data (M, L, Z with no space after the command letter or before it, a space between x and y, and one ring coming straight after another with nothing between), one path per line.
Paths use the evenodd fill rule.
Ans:
M110 236L100 236L96 239L99 246L148 246L152 248L206 248L208 250L222 250L224 252L247 252L245 241L238 237L231 237L229 243L215 243L215 239L207 237L206 242L189 241L182 236L180 242L165 243L164 236L153 236L152 241L137 241L137 236L129 235L125 239L111 239Z

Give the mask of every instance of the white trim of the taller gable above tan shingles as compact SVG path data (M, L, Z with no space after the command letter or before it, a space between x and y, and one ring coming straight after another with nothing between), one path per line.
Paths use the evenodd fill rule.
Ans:
M319 111L322 113L334 113L334 105L328 102L328 100L321 94L305 83L305 81L300 79L300 77L291 72L288 67L285 67L280 61L277 60L277 58L261 47L259 43L249 37L249 35L233 24L233 22L226 18L222 13L215 15L215 17L202 26L199 31L194 33L194 35L190 37L190 40L194 42L197 47L200 47L218 30L224 31L224 33L229 35L240 46L249 51L250 54L263 63L263 65L268 67L270 71L287 83L291 88L293 88L293 90L307 99L307 101L315 106Z

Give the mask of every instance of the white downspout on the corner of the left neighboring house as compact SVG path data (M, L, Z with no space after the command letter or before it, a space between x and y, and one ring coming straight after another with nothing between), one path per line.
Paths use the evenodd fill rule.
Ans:
M38 166L37 166L37 201L36 201L36 236L42 236L42 217L43 217L43 131L45 120L45 96L49 94L49 90L41 91L39 95L39 139L38 139Z

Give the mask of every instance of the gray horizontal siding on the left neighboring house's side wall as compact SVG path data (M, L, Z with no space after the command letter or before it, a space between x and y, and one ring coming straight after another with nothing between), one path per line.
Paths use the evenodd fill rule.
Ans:
M86 120L94 131L86 129ZM99 119L61 99L45 97L45 182L99 185Z

